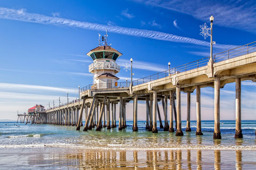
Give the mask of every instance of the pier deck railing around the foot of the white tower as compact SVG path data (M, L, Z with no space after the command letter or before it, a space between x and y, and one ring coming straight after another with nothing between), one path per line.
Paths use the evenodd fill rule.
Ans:
M115 83L95 83L89 84L83 88L81 88L81 92L86 90L99 90L99 89L117 89L117 88L129 88L131 82L115 82Z

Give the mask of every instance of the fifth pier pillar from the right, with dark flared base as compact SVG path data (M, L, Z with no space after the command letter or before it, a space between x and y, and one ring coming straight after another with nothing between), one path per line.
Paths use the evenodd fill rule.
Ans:
M181 96L180 96L180 86L176 86L176 95L177 95L177 136L183 136L181 130Z

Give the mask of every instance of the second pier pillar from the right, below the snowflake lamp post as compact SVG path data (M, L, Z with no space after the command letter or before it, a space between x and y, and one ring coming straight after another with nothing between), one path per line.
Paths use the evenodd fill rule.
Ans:
M220 78L214 79L214 133L213 139L221 139L220 134Z

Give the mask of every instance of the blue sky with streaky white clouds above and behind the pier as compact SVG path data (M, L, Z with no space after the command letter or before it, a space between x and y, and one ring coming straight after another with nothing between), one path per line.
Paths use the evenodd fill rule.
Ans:
M255 1L0 1L0 120L17 119L29 107L46 108L78 97L92 83L92 59L98 33L123 55L117 59L121 81L133 58L133 80L210 55L210 37L199 35L213 21L213 54L251 43L256 34ZM201 90L202 120L213 120L213 88ZM242 82L242 120L256 113L256 84ZM196 120L195 92L191 120ZM159 103L159 105L161 105ZM162 111L162 107L161 111ZM139 103L139 120L145 120ZM127 104L132 119L132 103ZM161 113L163 116L163 113ZM221 89L221 120L235 120L235 83ZM186 94L182 93L182 120Z

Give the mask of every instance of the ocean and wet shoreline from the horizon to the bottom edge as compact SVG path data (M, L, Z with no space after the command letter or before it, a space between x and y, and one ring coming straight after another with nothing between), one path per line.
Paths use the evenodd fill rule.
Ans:
M242 121L243 139L234 139L235 121L221 121L221 140L213 140L214 121L202 132L175 133L127 128L100 132L75 126L0 122L0 169L256 169L256 121ZM164 123L164 122L163 122ZM118 124L118 121L117 121ZM81 128L82 129L82 128Z

